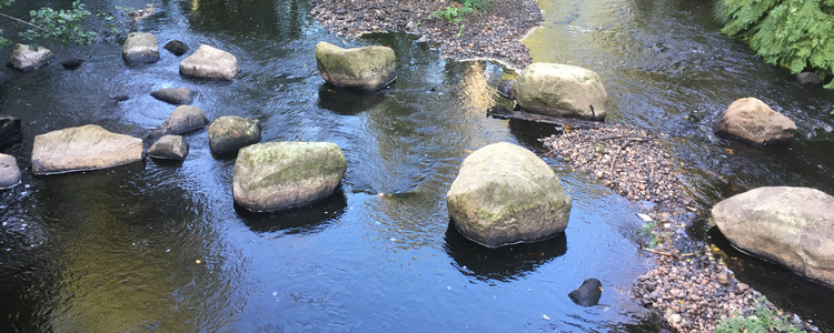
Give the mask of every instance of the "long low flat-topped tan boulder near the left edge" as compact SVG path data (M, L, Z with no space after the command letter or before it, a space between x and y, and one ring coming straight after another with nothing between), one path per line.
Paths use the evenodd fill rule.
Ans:
M142 140L99 125L68 128L34 137L32 173L105 169L142 160Z

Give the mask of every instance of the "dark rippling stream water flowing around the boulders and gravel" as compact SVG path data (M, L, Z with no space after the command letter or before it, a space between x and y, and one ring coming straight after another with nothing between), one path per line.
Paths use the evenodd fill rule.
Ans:
M539 4L545 22L525 40L534 59L597 71L610 98L609 122L673 135L668 145L685 164L683 179L705 206L759 185L834 192L827 115L834 94L792 83L785 71L719 36L708 3ZM155 64L127 67L117 43L53 47L57 62L88 61L76 71L56 63L0 72L0 113L21 118L24 131L21 142L0 149L18 158L24 174L21 185L0 192L0 331L655 330L626 295L651 264L638 249L634 206L562 161L546 159L575 199L564 235L487 250L449 225L445 193L466 155L500 141L542 155L536 139L554 132L485 117L500 101L492 87L512 78L510 70L440 58L407 34L340 39L307 14L306 1L157 1L155 8L141 31L160 43L227 50L242 73L234 82L183 79L181 58L163 50ZM365 94L325 85L314 56L319 41L394 48L397 81ZM341 189L306 208L239 210L231 198L235 161L210 154L206 131L186 137L191 151L181 163L29 172L34 135L88 123L143 135L173 110L149 93L173 87L198 91L193 104L209 119L260 120L264 141L339 144L348 160ZM119 94L130 99L117 102ZM798 138L767 150L715 138L715 115L747 95L795 119ZM823 327L834 325L830 289L733 253L706 230L692 233L718 239L739 279ZM602 305L585 309L567 293L588 278L605 292Z

